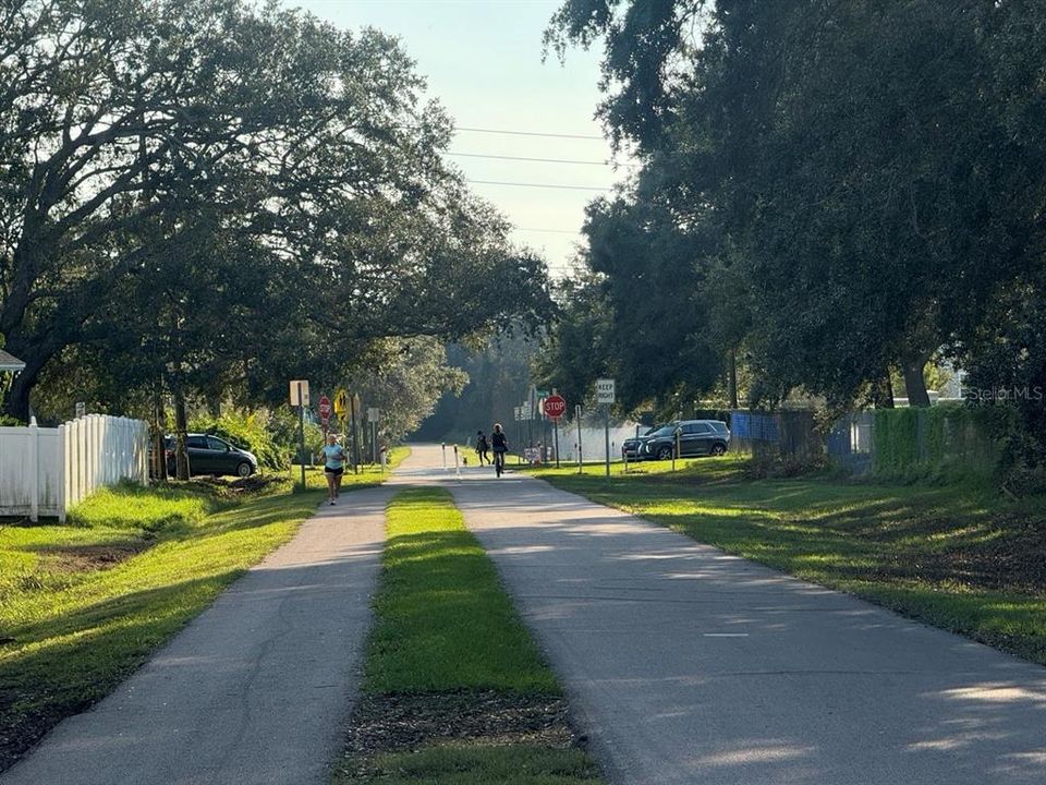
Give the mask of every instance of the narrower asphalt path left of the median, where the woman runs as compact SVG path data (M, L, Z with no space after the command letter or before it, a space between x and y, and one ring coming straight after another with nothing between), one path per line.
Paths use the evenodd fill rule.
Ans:
M351 491L2 785L329 783L392 490Z

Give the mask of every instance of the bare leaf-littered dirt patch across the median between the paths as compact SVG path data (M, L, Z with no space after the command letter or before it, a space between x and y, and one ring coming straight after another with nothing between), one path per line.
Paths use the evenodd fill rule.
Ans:
M567 701L555 696L492 691L364 695L350 722L344 771L365 776L375 754L447 741L567 749L582 739L571 728Z

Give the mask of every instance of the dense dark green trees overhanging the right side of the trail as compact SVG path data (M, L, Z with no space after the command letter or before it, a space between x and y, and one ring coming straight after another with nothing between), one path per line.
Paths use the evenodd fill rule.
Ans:
M1044 31L1033 0L567 0L546 45L603 46L642 168L588 208L544 375L928 406L938 355L1026 390L1046 454Z

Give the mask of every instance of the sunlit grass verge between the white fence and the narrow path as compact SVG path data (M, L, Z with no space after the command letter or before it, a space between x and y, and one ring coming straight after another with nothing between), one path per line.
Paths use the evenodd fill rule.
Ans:
M377 482L380 472L351 475L344 487ZM287 542L325 495L291 488L122 485L92 495L66 526L0 524L0 770Z

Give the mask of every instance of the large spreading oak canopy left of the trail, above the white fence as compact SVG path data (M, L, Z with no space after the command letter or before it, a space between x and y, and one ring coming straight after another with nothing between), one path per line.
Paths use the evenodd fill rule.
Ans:
M277 3L4 3L7 413L173 398L184 426L190 399L350 375L436 396L460 379L416 337L488 333L494 300L543 322L544 262L445 166L423 88L394 39Z

